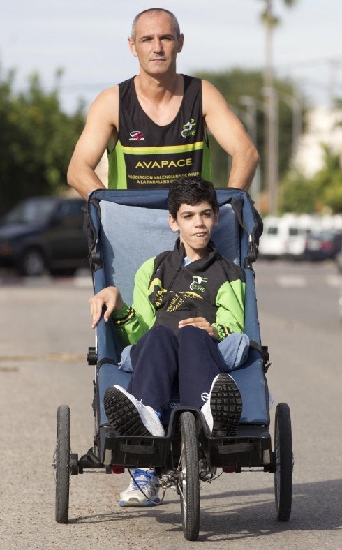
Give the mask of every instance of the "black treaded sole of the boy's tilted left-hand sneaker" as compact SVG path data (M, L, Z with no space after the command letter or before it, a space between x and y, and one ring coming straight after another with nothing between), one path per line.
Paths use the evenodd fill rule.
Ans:
M151 436L134 403L116 387L106 389L103 405L110 426L121 436Z

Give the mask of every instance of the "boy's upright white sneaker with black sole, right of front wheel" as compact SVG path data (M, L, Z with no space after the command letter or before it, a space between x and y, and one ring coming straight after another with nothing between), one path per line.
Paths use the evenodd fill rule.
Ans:
M218 374L211 385L208 401L201 408L211 436L235 436L242 412L242 399L235 381Z

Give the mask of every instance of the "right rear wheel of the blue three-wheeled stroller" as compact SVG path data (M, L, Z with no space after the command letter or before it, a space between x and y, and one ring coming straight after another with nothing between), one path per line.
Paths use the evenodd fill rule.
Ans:
M274 473L276 516L279 521L288 521L292 503L293 455L290 408L286 403L279 403L276 407L274 453L276 457Z

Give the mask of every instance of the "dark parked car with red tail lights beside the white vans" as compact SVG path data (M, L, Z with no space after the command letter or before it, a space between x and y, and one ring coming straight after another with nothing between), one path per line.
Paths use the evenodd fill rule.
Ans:
M306 239L304 258L306 260L334 260L341 246L341 231L313 232Z

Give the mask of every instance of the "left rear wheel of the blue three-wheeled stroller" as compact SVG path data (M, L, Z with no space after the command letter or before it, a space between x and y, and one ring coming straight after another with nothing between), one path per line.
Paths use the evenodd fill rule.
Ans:
M70 409L57 409L57 444L54 452L56 477L55 516L57 523L68 523L70 482Z

